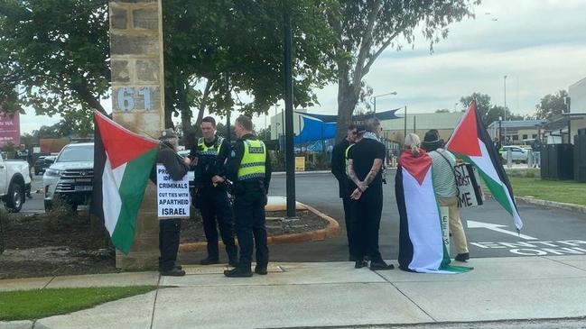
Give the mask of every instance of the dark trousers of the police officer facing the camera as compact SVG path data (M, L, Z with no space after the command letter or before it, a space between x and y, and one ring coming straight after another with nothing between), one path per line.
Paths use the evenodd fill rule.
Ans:
M232 222L232 207L228 201L228 193L222 187L201 187L198 190L200 198L203 231L208 241L209 258L218 259L218 229L222 242L226 245L229 260L237 260L237 246L234 242L234 225Z

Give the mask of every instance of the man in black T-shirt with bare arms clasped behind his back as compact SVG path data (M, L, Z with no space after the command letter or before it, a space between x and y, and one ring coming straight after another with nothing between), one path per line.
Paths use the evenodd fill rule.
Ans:
M350 195L352 216L351 230L356 234L355 268L366 267L368 256L370 270L393 270L386 264L378 248L378 231L383 210L382 166L385 160L385 145L378 141L380 122L368 119L367 131L360 142L349 149L348 174L356 184ZM363 133L358 131L358 133Z

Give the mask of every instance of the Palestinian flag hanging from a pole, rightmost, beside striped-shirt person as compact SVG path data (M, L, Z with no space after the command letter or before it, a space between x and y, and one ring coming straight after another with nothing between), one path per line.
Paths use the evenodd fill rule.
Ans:
M479 169L480 177L492 196L513 216L516 229L521 230L523 222L516 209L511 183L500 162L498 151L480 120L476 100L470 103L468 111L446 144L446 149Z

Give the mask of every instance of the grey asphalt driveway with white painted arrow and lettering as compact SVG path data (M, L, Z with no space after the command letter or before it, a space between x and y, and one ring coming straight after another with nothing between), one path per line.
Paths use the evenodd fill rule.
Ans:
M395 172L387 174L385 205L380 227L380 250L386 259L398 254L398 212L395 204ZM33 177L33 199L28 199L23 212L42 212L42 176ZM296 176L297 200L319 209L339 221L342 233L319 242L304 242L270 246L271 259L276 261L334 261L348 260L348 246L338 182L329 173ZM269 194L285 196L285 176L274 174ZM510 216L495 201L488 198L485 205L462 209L470 257L506 257L529 255L586 254L586 214L561 209L517 205L525 227L516 233ZM470 223L474 221L476 223ZM501 226L491 226L501 225ZM480 227L471 227L480 226ZM486 226L489 226L488 228ZM453 254L453 252L452 252ZM191 255L203 258L203 253ZM190 258L191 258L190 257ZM223 257L223 256L222 256Z

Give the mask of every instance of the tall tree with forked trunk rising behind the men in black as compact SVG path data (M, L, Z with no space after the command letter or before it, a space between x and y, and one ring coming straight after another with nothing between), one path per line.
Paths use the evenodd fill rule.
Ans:
M423 40L433 44L448 36L448 26L465 17L473 17L473 5L479 0L354 1L335 0L335 10L327 13L338 42L335 66L338 75L338 132L343 138L360 95L364 78L376 59L391 47L401 50L405 40L414 44L421 29Z

